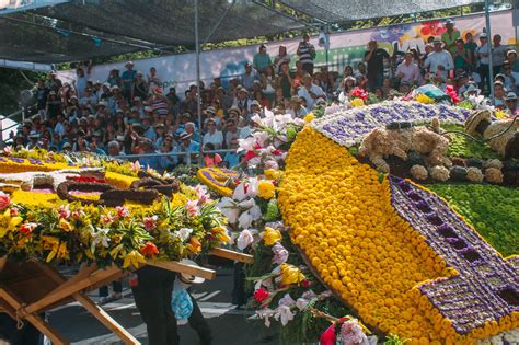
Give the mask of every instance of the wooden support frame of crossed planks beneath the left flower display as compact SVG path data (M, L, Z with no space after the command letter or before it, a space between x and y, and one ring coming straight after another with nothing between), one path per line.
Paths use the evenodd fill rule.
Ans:
M215 249L209 252L209 255L244 263L252 262L251 255L226 249ZM147 265L177 273L185 273L206 279L214 279L216 277L216 272L212 269L186 265L180 262L148 262ZM84 294L86 290L99 288L113 280L122 278L125 275L123 269L116 266L101 269L95 265L82 265L74 276L67 279L59 274L54 266L44 263L27 262L23 265L12 267L7 257L0 257L0 275L4 273L4 269L30 269L30 274L24 277L25 279L18 279L16 274L11 274L11 280L0 280L0 309L19 323L30 322L41 333L45 334L53 344L61 345L70 344L70 342L61 336L59 332L51 327L38 314L57 306L66 304L72 300L78 301L89 313L103 323L111 332L116 334L125 344L140 344L137 338L135 338ZM38 284L34 284L35 279L37 279ZM27 289L31 288L38 290L38 294L35 292L34 296L30 296L31 294L27 295Z

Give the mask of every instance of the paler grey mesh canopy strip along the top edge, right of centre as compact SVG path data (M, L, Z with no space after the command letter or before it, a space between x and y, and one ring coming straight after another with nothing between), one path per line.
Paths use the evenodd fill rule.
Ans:
M483 2L482 0L280 0L330 23L419 13Z

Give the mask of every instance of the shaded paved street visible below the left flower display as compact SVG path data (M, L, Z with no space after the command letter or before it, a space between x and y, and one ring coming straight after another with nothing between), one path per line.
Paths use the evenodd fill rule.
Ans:
M278 344L275 330L264 331L258 321L247 320L252 311L235 310L231 304L232 269L219 268L212 281L195 286L192 290L212 330L214 344ZM103 308L135 335L148 344L146 325L135 307L131 290L124 287L124 298ZM97 301L96 294L90 294ZM91 317L79 303L71 303L49 313L50 323L72 344L120 344L118 338ZM198 344L198 338L188 324L180 324L181 344Z

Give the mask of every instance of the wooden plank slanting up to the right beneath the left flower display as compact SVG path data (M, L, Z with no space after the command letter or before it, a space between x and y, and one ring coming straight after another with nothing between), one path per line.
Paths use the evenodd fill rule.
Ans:
M27 313L37 312L37 311L44 309L47 306L50 306L50 304L53 304L53 303L55 303L55 302L57 302L57 301L59 301L64 298L67 298L67 297L71 296L76 292L79 292L79 291L88 288L89 286L95 285L97 281L101 281L101 280L104 280L104 279L108 278L109 276L116 274L118 271L119 271L119 268L117 268L116 266L112 266L112 267L106 268L106 269L97 269L96 272L94 272L89 277L86 277L82 280L76 281L73 285L67 285L66 288L58 288L57 290L48 294L47 296L45 296L41 300L27 306L25 308L25 311Z

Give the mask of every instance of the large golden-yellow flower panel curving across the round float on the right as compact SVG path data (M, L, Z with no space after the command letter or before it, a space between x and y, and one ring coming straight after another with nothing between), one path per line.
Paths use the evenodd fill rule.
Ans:
M322 279L368 324L441 342L407 294L452 273L391 206L389 182L305 127L292 145L278 202L290 237Z

